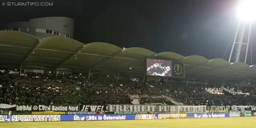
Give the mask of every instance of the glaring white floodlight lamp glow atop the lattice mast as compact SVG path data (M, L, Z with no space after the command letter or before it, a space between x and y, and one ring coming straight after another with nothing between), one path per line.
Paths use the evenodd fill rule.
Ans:
M242 20L253 20L256 18L256 0L244 0L238 6L238 16Z

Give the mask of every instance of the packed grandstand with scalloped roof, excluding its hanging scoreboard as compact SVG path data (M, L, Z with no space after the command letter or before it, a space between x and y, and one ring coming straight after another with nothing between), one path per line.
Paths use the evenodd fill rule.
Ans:
M255 65L15 31L1 31L0 46L0 66L19 71L1 70L5 104L255 104L255 82L241 88ZM147 58L183 62L185 75L147 76Z

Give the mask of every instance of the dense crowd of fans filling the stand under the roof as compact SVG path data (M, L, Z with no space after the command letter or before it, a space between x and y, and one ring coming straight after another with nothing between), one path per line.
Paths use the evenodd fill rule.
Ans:
M0 88L0 103L4 104L131 104L130 96L140 98L140 104L169 104L164 98L152 96L167 96L185 105L251 105L255 103L256 88L234 86L236 90L249 92L250 95L228 92L211 94L205 85L186 84L164 80L119 80L113 78L94 77L88 79L82 75L54 75L28 72L26 74L8 74L0 72L0 82L7 88ZM211 84L206 87L220 86ZM230 85L231 87L231 85ZM232 86L233 87L233 86Z

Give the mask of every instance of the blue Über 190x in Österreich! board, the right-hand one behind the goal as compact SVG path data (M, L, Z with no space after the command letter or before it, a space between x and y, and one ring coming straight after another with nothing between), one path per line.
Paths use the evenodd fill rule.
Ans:
M187 117L194 118L218 118L218 117L229 117L229 113L207 113L207 114L187 114Z

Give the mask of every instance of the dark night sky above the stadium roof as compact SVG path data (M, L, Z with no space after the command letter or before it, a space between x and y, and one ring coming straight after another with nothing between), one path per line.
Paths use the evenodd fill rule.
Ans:
M74 40L106 42L120 48L223 58L238 26L239 0L29 0L53 6L2 6L0 24L32 18L73 18ZM252 24L252 63L256 64L256 21ZM224 57L228 60L231 46ZM248 48L251 64L251 45Z

